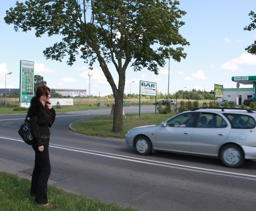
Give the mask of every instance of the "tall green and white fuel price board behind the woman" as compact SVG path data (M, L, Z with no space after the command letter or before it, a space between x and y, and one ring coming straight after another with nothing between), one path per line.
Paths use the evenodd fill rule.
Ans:
M20 61L20 102L28 103L34 96L34 62Z

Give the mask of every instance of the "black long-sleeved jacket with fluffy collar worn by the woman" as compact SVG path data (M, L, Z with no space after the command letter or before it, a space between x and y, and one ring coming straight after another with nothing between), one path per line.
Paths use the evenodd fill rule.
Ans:
M52 113L52 115L50 114ZM28 109L28 116L30 117L31 132L36 139L36 145L42 146L40 135L50 135L49 127L52 126L55 120L54 108L48 111L37 97L31 99L30 107Z

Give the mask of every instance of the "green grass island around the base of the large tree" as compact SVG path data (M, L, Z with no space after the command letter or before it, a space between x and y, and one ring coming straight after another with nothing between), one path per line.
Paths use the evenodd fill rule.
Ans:
M75 129L76 132L82 133L84 135L124 138L124 135L127 133L127 131L133 127L156 125L175 114L176 113L174 112L171 114L143 113L140 114L140 117L138 114L126 114L126 118L123 116L124 131L121 133L112 132L113 116L109 115L76 121L72 123L72 128Z

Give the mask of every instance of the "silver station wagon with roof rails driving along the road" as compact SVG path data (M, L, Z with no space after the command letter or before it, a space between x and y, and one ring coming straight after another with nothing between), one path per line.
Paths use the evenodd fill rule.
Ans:
M256 111L198 108L185 111L159 125L130 129L129 147L140 155L156 151L220 157L227 167L240 167L256 159Z

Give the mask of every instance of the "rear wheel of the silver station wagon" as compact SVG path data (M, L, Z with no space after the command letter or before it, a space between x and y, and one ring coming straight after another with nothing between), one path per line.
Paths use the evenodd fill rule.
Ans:
M222 147L220 159L225 166L237 168L244 164L244 152L241 147L229 144Z

